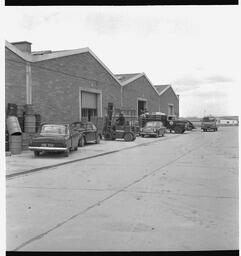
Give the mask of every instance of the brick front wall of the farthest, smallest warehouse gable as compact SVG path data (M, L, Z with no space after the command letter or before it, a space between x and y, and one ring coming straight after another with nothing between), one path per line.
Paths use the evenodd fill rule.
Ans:
M178 117L179 116L179 100L175 96L172 88L167 89L160 96L160 111L168 114L168 104L174 105L174 114Z

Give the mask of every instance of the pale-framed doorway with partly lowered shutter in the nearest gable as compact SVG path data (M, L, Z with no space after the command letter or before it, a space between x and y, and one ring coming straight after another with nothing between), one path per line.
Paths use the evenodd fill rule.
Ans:
M101 91L80 89L79 101L81 121L91 121L93 117L102 116Z

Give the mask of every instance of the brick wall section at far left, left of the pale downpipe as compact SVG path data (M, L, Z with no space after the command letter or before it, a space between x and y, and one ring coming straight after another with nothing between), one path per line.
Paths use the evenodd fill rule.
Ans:
M5 48L5 105L26 104L26 64L16 54Z

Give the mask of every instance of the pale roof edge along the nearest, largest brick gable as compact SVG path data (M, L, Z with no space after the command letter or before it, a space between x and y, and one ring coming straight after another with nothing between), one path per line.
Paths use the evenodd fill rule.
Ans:
M20 51L17 47L14 45L10 44L8 41L5 41L5 46L12 52L14 52L16 55L24 59L25 61L28 62L39 62L39 61L44 61L44 60L51 60L51 59L56 59L56 58L61 58L61 57L66 57L66 56L71 56L71 55L76 55L76 54L81 54L81 53L89 53L94 57L100 65L114 78L114 80L119 84L122 85L121 82L114 76L114 74L107 68L107 66L88 48L80 48L80 49L75 49L75 50L64 50L64 51L53 51L49 52L47 51L46 53L42 54L32 54L32 53L26 53Z

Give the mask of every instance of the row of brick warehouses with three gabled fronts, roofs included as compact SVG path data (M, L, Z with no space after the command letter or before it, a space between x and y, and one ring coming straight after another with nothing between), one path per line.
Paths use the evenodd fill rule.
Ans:
M29 42L6 42L5 62L6 105L33 104L43 121L103 117L108 103L136 116L144 108L165 112L163 104L179 113L171 87L165 103L144 73L114 75L89 48L32 52Z

